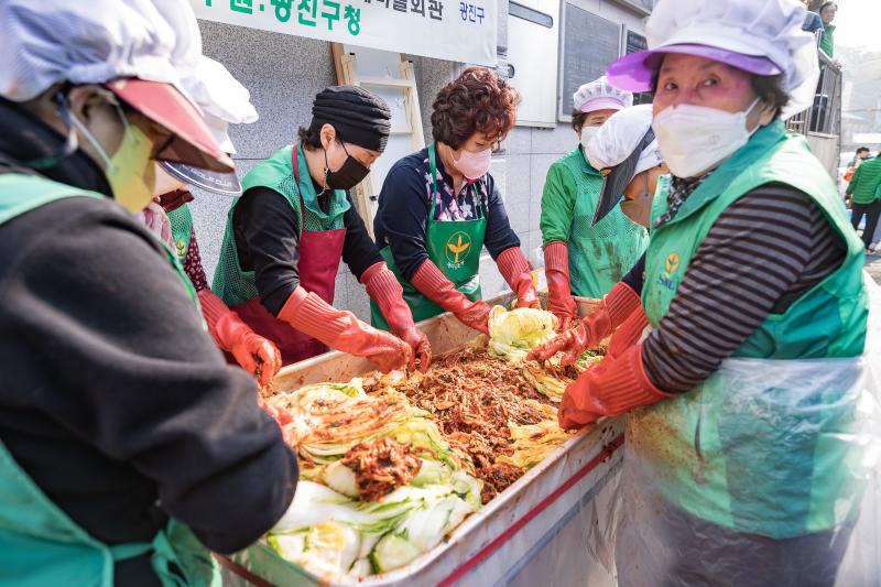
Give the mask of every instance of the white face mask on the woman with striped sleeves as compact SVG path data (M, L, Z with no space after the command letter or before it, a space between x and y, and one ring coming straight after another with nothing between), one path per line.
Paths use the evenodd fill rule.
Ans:
M676 177L699 177L747 144L757 126L747 130L747 116L759 104L755 98L742 112L683 104L665 108L652 128L664 163Z

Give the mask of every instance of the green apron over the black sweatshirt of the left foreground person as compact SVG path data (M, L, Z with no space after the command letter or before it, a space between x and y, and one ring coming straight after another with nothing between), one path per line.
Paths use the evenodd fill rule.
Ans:
M69 197L104 196L42 177L0 175L0 225ZM174 257L168 258L188 283ZM192 285L188 292L195 300ZM53 503L0 442L0 583L111 587L115 563L148 553L166 587L220 584L210 552L175 520L152 542L109 545L93 537Z

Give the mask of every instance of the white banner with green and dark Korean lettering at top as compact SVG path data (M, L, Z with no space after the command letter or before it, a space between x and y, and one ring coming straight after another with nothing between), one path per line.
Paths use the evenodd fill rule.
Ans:
M196 18L496 67L497 0L189 0Z

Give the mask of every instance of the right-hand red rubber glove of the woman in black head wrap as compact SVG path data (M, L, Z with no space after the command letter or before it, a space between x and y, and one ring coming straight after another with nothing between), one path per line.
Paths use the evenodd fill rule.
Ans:
M416 368L416 357L420 359L420 369L424 373L432 363L432 345L425 333L416 328L413 323L413 313L404 302L404 290L398 283L394 273L389 271L384 262L373 263L361 274L367 294L379 306L392 333L398 335L413 349L413 359L410 370Z

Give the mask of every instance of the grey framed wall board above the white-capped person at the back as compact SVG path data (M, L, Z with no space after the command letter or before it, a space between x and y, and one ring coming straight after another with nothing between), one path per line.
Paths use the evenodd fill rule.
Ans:
M559 119L568 121L575 91L605 75L606 67L620 55L621 25L568 2L564 18Z

